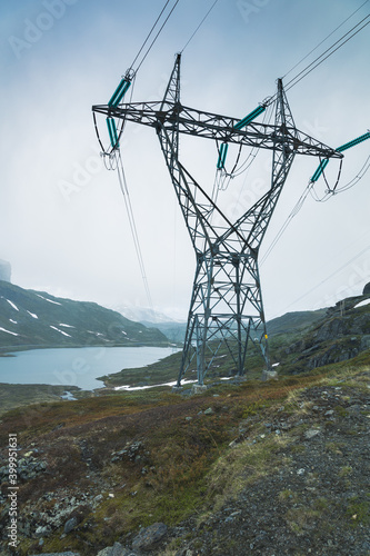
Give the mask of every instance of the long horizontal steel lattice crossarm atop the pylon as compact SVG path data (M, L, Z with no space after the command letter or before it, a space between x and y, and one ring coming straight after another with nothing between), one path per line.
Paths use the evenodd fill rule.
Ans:
M342 158L343 155L313 139L294 127L250 122L246 129L236 129L238 118L204 112L188 108L179 102L150 101L131 102L118 107L93 106L94 112L158 128L177 127L180 133L203 137L222 142L258 147L270 150L292 150L297 155L321 158Z

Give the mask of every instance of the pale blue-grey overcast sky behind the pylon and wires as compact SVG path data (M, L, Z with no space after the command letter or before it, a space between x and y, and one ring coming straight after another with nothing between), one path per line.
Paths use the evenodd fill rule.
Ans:
M179 1L138 72L133 101L161 98L176 52L212 3ZM11 262L13 284L106 306L148 305L117 172L103 167L91 106L108 102L163 4L1 1L0 259ZM361 4L218 0L183 52L182 102L242 118ZM368 1L286 82L369 11ZM287 93L299 129L338 147L370 128L369 46L370 26ZM341 185L369 152L370 141L346 152ZM211 190L214 145L184 138L183 153L189 170ZM184 318L194 254L154 130L127 126L122 159L153 306ZM261 257L318 162L296 157ZM271 153L261 152L247 176L220 192L220 202L231 214L237 206L247 210L268 189L270 163ZM337 171L331 161L331 182ZM333 305L370 281L369 179L370 172L324 203L308 197L261 266L268 318ZM317 190L324 189L320 180Z

